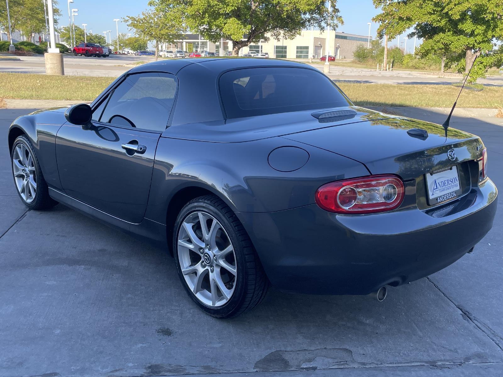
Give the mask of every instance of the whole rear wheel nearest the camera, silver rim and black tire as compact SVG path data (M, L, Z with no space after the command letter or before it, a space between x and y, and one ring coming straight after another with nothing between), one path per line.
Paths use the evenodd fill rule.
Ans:
M269 281L246 231L214 196L196 198L182 209L173 254L187 294L213 317L241 314L267 293Z

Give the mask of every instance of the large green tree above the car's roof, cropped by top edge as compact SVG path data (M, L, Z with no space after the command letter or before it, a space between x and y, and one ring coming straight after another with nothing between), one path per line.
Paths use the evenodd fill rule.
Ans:
M150 0L149 5L170 15L204 38L232 41L232 55L242 47L271 37L292 38L311 26L324 30L343 24L337 0Z

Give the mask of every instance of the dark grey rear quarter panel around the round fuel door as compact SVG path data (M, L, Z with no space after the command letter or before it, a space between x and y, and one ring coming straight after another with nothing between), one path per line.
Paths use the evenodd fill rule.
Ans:
M268 156L281 146L305 149L308 161L295 171L273 169ZM280 137L242 143L161 137L145 217L164 223L171 198L189 186L213 192L233 211L275 212L314 203L326 182L368 173L360 162Z

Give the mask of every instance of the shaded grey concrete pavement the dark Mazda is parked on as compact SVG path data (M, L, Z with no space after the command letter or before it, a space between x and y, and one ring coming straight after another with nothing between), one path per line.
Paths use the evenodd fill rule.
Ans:
M382 303L273 288L255 310L218 320L196 309L164 250L62 205L26 210L6 136L28 112L0 110L0 376L503 375L501 197L472 254ZM503 120L451 125L483 137L503 187Z

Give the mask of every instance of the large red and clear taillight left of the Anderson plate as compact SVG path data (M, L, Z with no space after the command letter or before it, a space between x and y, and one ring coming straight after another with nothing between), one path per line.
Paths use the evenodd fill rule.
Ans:
M316 204L339 214L366 214L391 211L403 201L404 187L396 175L369 175L322 185L316 191Z

